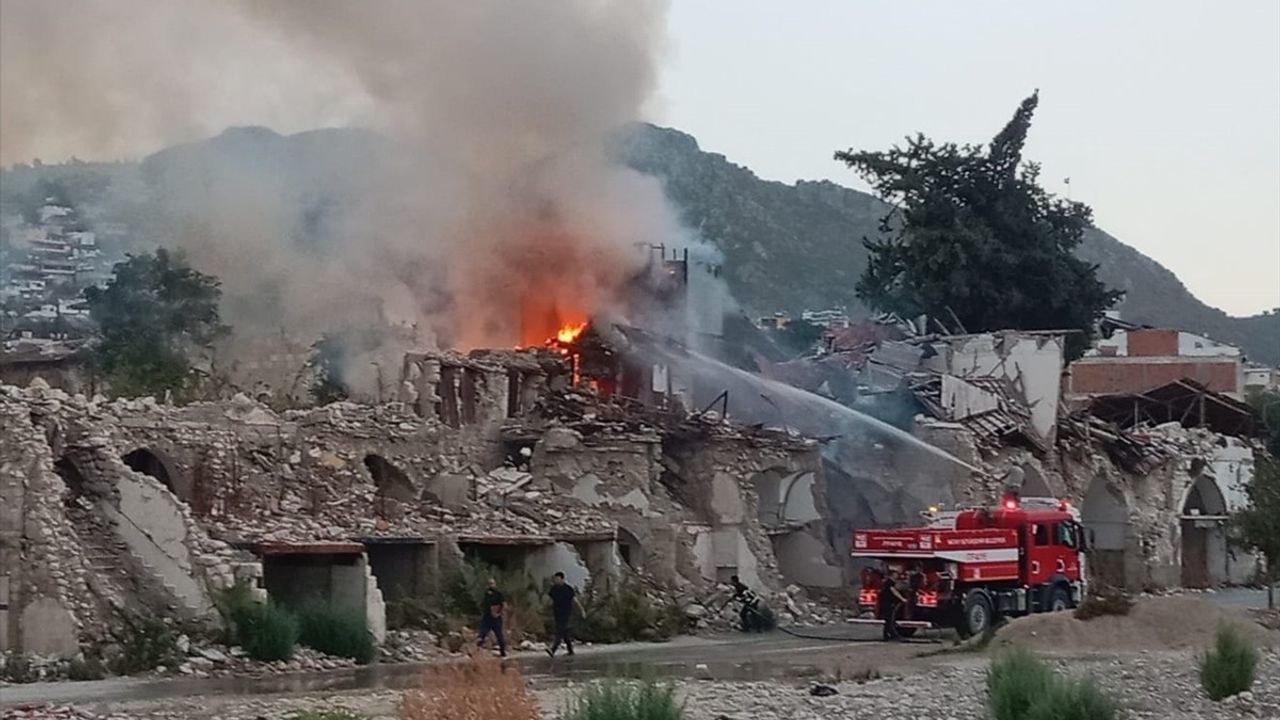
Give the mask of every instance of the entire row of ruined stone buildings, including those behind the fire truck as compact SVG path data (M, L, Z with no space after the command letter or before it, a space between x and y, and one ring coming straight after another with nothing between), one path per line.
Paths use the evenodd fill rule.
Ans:
M854 528L1007 484L1080 509L1094 580L1253 574L1225 534L1253 464L1238 401L1180 380L1069 404L1053 333L841 337L765 379L577 328L411 354L392 402L285 413L0 386L0 648L70 655L131 614L211 619L237 580L364 607L380 635L387 602L431 594L463 557L577 585L630 568L682 597L733 574L778 596L849 587ZM892 428L847 406L868 402L910 414Z

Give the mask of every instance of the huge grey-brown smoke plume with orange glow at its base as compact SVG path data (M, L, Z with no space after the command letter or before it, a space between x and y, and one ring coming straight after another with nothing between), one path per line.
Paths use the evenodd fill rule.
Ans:
M636 245L680 237L655 181L605 159L653 92L663 3L3 8L3 163L230 124L378 133L238 131L145 164L148 237L221 278L242 334L541 342L617 310Z

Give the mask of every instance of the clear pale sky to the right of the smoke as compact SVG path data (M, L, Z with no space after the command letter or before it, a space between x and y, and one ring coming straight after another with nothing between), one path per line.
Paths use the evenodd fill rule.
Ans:
M986 142L1034 88L1027 156L1100 227L1231 314L1280 306L1280 3L675 0L654 106L760 177L908 133Z

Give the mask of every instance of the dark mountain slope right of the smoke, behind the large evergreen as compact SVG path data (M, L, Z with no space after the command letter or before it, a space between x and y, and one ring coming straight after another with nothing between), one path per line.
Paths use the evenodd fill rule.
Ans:
M724 252L730 287L751 313L860 307L854 283L867 264L861 238L878 232L886 209L876 197L826 181L763 181L669 128L637 126L614 151L662 178L685 223ZM1126 291L1125 319L1207 334L1280 364L1280 314L1233 318L1210 307L1167 268L1102 231L1085 236L1080 255L1100 265L1107 284Z

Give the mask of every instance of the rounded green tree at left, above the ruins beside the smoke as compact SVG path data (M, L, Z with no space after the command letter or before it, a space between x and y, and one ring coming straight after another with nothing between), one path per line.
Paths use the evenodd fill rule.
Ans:
M99 328L97 364L118 395L180 389L188 355L227 332L218 279L164 249L128 255L106 288L87 288L84 297Z

